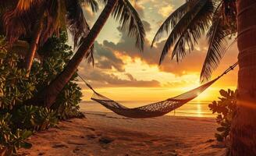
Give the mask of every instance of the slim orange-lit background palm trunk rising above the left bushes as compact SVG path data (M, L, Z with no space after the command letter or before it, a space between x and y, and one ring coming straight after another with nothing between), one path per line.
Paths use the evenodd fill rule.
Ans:
M37 45L39 43L39 39L41 37L42 23L44 21L44 9L41 9L40 15L41 17L39 20L37 20L37 23L34 27L33 37L30 43L30 50L28 51L25 57L25 69L27 70L27 76L30 75L30 69L34 61L34 56L37 51Z

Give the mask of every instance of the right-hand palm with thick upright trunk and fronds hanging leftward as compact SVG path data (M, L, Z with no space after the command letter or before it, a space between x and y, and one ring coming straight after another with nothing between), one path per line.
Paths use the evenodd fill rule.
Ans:
M153 46L163 33L171 30L159 64L172 46L172 58L179 62L208 30L209 47L201 70L204 81L219 65L227 39L237 40L239 101L230 132L230 155L256 155L256 21L252 20L256 16L255 6L254 0L189 0L172 12L152 42Z

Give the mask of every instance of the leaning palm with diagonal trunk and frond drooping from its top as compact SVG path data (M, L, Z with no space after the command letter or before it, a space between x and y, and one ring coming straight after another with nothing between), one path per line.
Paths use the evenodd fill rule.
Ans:
M66 83L70 80L74 73L76 73L77 67L80 62L83 60L84 56L90 54L90 48L98 34L101 31L101 28L105 25L108 17L112 14L116 20L119 20L121 28L128 31L130 37L136 38L136 46L143 51L144 47L144 27L140 21L140 17L133 6L128 0L108 0L105 1L106 5L103 11L101 12L98 20L94 23L94 26L91 28L90 33L85 37L80 44L80 47L77 49L76 54L69 61L66 68L62 71L48 85L48 87L41 90L37 96L27 101L27 104L41 104L47 105L48 108L52 106L56 97Z

